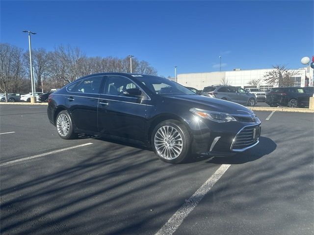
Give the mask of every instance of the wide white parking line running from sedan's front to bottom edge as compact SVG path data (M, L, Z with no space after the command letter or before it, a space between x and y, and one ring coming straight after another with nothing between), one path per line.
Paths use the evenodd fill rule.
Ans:
M156 233L156 235L172 235L182 224L183 219L197 206L197 204L208 193L210 188L228 170L230 164L221 165L216 172L171 216L168 222Z

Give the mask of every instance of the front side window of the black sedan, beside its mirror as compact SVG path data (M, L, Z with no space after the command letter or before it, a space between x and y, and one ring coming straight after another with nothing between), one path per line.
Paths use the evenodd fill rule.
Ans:
M137 88L137 86L129 78L116 75L106 76L104 94L125 96L123 92L131 88Z

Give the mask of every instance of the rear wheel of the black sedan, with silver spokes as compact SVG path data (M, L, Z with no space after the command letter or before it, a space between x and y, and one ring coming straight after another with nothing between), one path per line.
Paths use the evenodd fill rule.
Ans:
M68 126L68 129L65 129L65 127L63 128L62 126ZM71 140L77 137L77 134L74 132L72 118L66 110L62 110L60 113L58 113L57 117L55 118L55 127L57 129L58 135L64 140Z

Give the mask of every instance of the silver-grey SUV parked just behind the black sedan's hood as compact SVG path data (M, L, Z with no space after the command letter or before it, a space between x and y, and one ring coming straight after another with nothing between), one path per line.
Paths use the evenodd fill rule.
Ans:
M256 96L254 94L244 91L241 87L233 86L209 86L205 87L203 91L210 91L210 95L214 95L218 99L232 101L238 104L254 106L257 104ZM203 94L203 92L202 92Z

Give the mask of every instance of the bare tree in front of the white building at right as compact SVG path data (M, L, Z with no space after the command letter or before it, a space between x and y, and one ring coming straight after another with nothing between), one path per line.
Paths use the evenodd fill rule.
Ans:
M287 65L273 66L273 70L265 72L264 81L269 85L278 85L279 87L289 87L294 85L291 80L293 76L298 74L297 71L287 69Z

